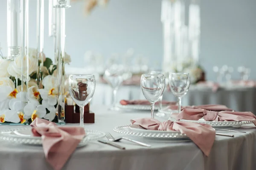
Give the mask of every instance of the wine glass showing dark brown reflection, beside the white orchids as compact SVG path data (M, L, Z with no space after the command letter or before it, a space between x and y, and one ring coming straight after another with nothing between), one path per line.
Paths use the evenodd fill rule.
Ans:
M93 97L95 77L94 75L70 75L68 84L71 98L80 107L80 127L84 127L84 106Z

